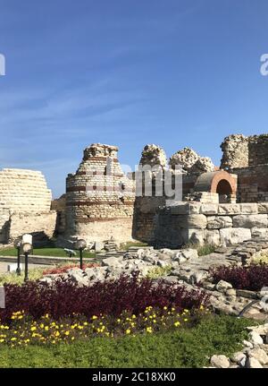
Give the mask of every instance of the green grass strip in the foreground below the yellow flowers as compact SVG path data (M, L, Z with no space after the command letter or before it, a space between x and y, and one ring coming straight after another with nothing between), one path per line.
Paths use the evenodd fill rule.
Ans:
M121 338L77 340L70 345L0 345L0 367L203 367L214 354L232 355L254 322L205 317L196 327Z

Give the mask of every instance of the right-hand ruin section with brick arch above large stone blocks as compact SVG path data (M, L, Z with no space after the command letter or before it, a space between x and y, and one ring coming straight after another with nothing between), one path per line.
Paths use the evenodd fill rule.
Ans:
M225 245L268 236L268 134L230 135L221 148L220 170L197 177L196 193L189 194L188 204L177 202L157 210L155 244ZM222 196L228 193L229 203L221 202L221 191Z

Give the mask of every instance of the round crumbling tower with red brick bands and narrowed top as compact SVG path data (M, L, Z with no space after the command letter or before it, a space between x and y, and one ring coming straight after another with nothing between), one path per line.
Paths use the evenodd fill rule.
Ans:
M116 146L93 143L66 179L66 237L88 242L132 239L135 184L125 176Z

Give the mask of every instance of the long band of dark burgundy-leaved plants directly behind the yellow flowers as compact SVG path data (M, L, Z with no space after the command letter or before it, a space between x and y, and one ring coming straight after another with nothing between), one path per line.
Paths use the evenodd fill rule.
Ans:
M197 309L206 305L204 291L188 291L185 287L163 282L154 284L150 279L139 280L137 275L121 276L115 281L96 282L91 287L78 287L70 280L58 279L53 286L40 281L29 281L21 287L6 284L6 308L0 310L1 322L10 322L13 312L24 310L38 320L48 313L54 320L85 315L119 316L123 311L141 313L148 305L178 310Z

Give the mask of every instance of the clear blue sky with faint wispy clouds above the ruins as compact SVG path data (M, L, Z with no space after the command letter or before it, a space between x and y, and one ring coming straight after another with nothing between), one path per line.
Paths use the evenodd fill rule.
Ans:
M219 164L224 136L267 132L267 25L267 0L0 0L0 167L57 197L92 142Z

